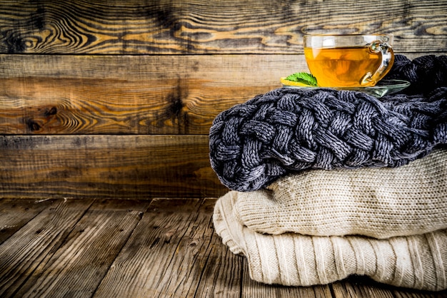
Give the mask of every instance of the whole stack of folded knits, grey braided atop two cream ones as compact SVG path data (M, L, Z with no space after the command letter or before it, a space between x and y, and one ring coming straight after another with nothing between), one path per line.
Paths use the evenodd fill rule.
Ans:
M252 279L447 289L447 57L396 56L388 78L412 88L281 88L214 120L211 166L231 189L214 226Z

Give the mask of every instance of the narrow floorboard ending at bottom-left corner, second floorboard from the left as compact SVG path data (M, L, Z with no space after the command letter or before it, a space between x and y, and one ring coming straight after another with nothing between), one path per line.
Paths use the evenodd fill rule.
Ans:
M57 200L0 245L0 296L12 297L71 233L91 200Z

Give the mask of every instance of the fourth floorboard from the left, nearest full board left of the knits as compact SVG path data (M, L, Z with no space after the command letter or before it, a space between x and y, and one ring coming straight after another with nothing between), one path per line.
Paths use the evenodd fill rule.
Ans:
M200 200L153 200L134 234L99 285L97 297L156 297L156 287L189 223L196 216ZM150 291L145 296L138 294Z

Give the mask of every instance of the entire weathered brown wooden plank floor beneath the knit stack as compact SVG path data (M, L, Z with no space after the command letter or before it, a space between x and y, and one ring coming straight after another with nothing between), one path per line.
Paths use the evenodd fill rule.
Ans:
M366 277L254 282L214 232L215 202L0 200L0 297L447 297Z

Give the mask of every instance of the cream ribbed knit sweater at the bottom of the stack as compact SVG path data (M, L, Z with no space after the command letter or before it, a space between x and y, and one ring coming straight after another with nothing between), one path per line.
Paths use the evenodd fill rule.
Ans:
M234 218L230 197L214 209L214 227L231 252L247 258L251 279L266 284L328 284L351 274L397 287L447 288L447 230L391 237L319 237L254 232Z

